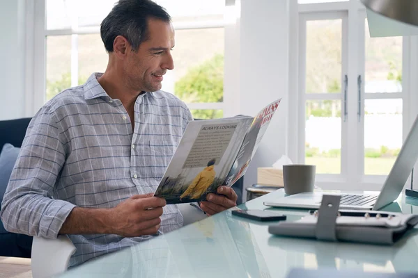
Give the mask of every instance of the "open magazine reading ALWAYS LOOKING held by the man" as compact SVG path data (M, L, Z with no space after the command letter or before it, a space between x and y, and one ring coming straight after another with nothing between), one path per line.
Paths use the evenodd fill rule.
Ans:
M154 196L167 204L200 202L245 174L281 99L256 117L189 122Z

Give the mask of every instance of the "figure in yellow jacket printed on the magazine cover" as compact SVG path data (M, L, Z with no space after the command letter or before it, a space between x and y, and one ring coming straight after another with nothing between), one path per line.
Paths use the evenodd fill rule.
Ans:
M202 172L197 174L192 183L190 183L189 187L180 196L180 201L184 197L189 197L189 199L199 199L201 195L208 190L209 186L215 179L216 172L213 169L215 167L215 162L215 159L211 159L208 162L208 167L205 167Z

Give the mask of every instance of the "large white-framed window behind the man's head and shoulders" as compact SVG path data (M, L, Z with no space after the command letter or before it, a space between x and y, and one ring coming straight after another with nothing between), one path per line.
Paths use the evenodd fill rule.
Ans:
M176 30L175 69L164 76L162 90L185 101L194 117L222 117L224 0L155 2L167 9ZM46 92L42 99L47 101L65 88L84 83L92 72L104 72L108 57L100 23L115 3L45 0Z

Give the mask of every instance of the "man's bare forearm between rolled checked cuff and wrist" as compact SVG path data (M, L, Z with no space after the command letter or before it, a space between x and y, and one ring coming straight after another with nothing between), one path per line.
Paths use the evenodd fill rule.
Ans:
M59 234L113 234L109 208L72 209Z

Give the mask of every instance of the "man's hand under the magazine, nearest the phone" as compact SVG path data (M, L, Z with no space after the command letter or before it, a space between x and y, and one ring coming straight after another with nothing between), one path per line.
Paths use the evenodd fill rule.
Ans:
M219 186L217 193L222 195L216 195L209 193L206 196L208 202L201 202L201 209L206 212L207 215L214 215L220 213L228 208L232 208L237 205L238 196L235 191L227 186Z

